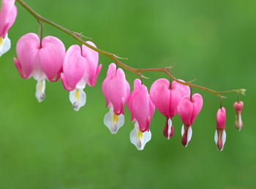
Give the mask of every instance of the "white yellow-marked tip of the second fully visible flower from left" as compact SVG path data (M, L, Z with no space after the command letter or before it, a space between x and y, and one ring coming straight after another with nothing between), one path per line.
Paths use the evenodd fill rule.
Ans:
M80 107L86 104L86 93L82 88L75 88L75 90L69 92L69 100L74 110L78 111Z

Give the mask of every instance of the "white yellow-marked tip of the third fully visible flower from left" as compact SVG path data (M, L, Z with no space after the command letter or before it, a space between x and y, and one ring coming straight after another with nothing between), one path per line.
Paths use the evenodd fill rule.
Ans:
M113 111L113 105L110 104L109 112L104 117L104 124L107 126L111 134L116 134L116 132L124 126L124 115L116 115Z

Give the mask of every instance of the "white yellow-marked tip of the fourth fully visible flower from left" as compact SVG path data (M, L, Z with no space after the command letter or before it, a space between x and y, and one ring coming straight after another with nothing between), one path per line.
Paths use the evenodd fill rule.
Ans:
M129 140L132 144L135 144L138 150L143 150L146 143L151 140L151 131L141 132L139 124L135 120L135 128L129 134Z

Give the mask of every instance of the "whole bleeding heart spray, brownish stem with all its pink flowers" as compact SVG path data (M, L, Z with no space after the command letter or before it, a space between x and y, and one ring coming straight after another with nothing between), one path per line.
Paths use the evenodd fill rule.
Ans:
M135 123L129 134L129 139L138 150L143 150L146 143L154 136L154 134L151 134L149 127L154 127L150 125L155 109L165 116L166 123L165 126L162 126L163 136L168 140L171 139L174 131L179 128L173 123L173 117L176 115L181 118L183 123L180 127L181 144L187 147L192 139L192 126L198 126L196 117L203 107L203 97L199 93L192 93L192 88L212 93L220 99L220 107L217 110L217 128L215 134L213 134L219 151L223 150L226 142L226 110L225 107L222 107L222 101L227 93L238 95L238 101L233 104L233 107L236 112L235 128L241 131L243 127L241 111L244 102L240 101L239 95L245 93L244 89L211 90L195 85L193 82L177 79L173 76L170 66L135 69L122 63L121 60L124 58L100 50L94 45L94 42L83 41L83 36L77 32L43 18L23 0L16 0L16 2L31 13L40 26L39 35L29 33L20 37L16 44L17 58L13 59L20 77L23 79L33 77L34 80L37 80L35 93L37 101L41 102L45 99L45 80L56 82L61 79L63 88L69 91L69 101L72 108L78 111L85 106L86 85L93 87L97 82L98 75L104 74L100 73L102 64L99 64L99 54L101 54L113 61L109 64L105 80L102 82L102 93L108 108L105 117L102 117L102 125L104 123L111 134L117 134L118 130L125 126L124 107L127 105L132 117L131 121ZM10 50L11 43L8 31L15 23L16 16L15 0L2 0L0 9L0 56ZM42 23L48 23L50 26L69 34L80 45L71 45L66 51L64 43L56 36L43 36ZM135 79L132 89L129 82L127 82L124 71L132 72L139 77L139 79ZM151 87L147 88L143 83L143 80L148 79L143 75L144 72L163 72L167 78L160 78L154 81Z

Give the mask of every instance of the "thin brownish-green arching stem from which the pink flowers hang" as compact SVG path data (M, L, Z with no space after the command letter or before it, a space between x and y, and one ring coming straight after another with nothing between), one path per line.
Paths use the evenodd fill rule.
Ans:
M118 64L118 66L121 66L122 68L127 69L129 72L133 72L135 74L138 74L141 79L144 77L143 74L141 74L143 72L164 72L165 74L167 74L171 78L171 80L174 80L174 81L176 81L176 82L178 82L178 83L180 83L182 85L187 85L187 86L192 87L192 88L198 88L200 90L205 90L205 91L207 91L209 93L213 93L214 95L219 96L220 99L225 97L225 96L222 96L222 94L224 94L224 93L238 93L238 94L241 93L243 95L245 94L246 90L244 88L234 89L234 90L225 90L225 91L216 91L216 90L212 90L210 88L205 88L205 87L200 86L200 85L192 84L192 82L180 81L176 77L174 77L173 74L170 72L170 66L169 67L164 67L164 68L135 69L135 68L133 68L131 66L128 66L127 64L122 63L121 61L118 60L118 59L127 59L127 58L120 58L120 57L118 57L117 55L115 55L113 53L108 53L105 50L100 50L97 47L89 45L88 43L83 41L83 39L80 38L80 34L79 33L75 32L75 31L71 31L71 30L69 30L67 28L64 28L63 26L60 26L57 23L54 23L51 20L43 18L41 15L39 15L37 12L35 12L34 9L31 9L31 7L29 7L29 5L26 4L23 0L16 0L16 1L18 1L18 3L22 7L24 7L29 13L31 13L31 15L33 15L34 18L36 18L37 21L39 22L40 28L41 28L41 39L42 39L42 22L48 23L51 26L53 26L55 28L58 28L59 30L63 31L64 33L68 34L69 36L72 36L73 38L78 40L78 42L80 42L81 44L86 45L87 47L91 48L92 50L95 50L98 53L107 56L108 58L113 60L116 64Z

